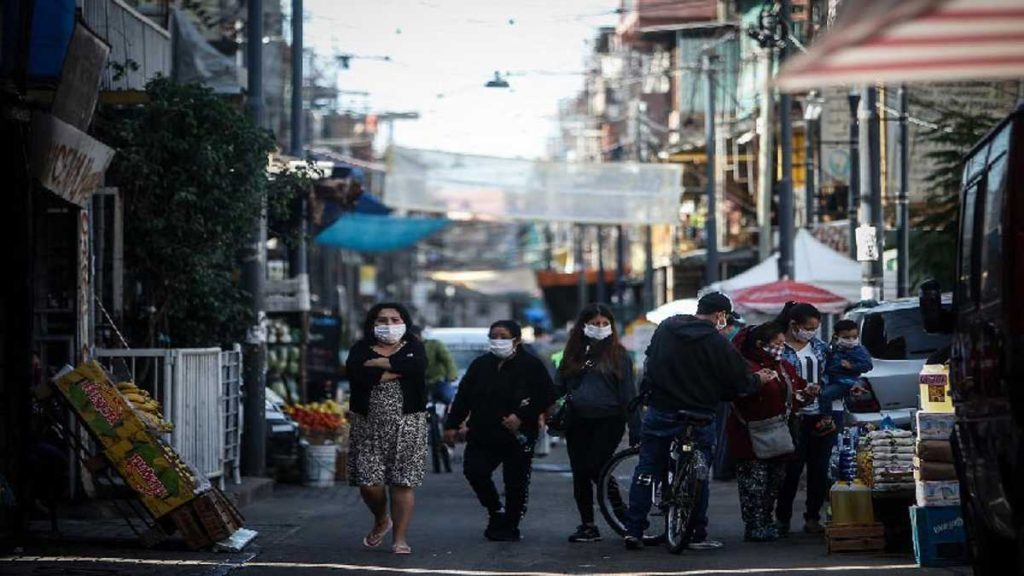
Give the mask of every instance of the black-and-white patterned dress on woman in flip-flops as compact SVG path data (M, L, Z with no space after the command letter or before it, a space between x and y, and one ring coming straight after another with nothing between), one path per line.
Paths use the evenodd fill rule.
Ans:
M348 483L352 486L423 484L427 465L427 414L402 414L397 380L374 386L366 416L352 414Z

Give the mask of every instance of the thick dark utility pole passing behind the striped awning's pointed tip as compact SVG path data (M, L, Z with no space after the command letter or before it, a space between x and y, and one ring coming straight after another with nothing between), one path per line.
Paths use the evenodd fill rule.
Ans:
M783 44L779 50L779 63L790 55L788 35L793 28L791 2L782 0L781 20ZM793 201L793 96L787 92L779 95L779 137L782 139L782 178L778 182L778 276L794 280L793 243L796 237Z

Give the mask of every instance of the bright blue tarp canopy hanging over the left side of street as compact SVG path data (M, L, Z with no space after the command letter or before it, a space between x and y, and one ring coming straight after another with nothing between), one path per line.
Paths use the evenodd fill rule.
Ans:
M444 218L348 213L316 235L316 243L355 252L392 252L414 246L447 224Z

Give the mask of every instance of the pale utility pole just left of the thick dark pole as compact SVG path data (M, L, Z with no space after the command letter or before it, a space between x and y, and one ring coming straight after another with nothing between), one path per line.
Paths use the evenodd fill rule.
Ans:
M775 180L775 91L771 84L772 64L775 59L775 49L771 46L762 47L762 78L761 86L761 138L758 148L758 182L761 190L758 193L758 260L767 260L772 253L771 238L771 199L774 195Z

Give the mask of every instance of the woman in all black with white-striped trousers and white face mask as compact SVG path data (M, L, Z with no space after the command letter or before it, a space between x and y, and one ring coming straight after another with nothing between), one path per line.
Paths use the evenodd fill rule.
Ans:
M516 322L494 323L489 336L490 352L474 360L459 382L444 441L452 446L459 436L466 438L463 474L487 510L484 537L517 542L526 513L538 422L555 396L544 363L521 348L522 328ZM492 479L499 465L504 504Z

